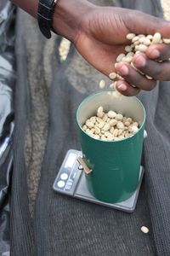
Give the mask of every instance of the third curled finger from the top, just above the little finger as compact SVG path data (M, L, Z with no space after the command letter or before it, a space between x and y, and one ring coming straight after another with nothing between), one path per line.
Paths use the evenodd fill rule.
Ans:
M133 84L133 86L142 90L152 90L156 86L155 80L146 79L144 75L131 67L127 62L116 63L115 67L116 73L122 76L128 84Z

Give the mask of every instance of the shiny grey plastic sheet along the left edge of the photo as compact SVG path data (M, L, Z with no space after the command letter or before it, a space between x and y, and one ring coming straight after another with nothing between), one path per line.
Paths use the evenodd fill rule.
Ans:
M0 3L0 255L8 256L10 180L13 155L14 7Z

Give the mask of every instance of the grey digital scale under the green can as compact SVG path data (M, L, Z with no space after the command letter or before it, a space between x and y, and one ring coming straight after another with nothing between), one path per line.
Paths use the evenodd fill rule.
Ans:
M61 194L69 195L83 201L92 202L105 207L111 207L123 212L133 212L139 196L139 189L144 176L144 167L140 166L139 185L134 194L126 201L118 203L107 203L99 201L88 191L86 177L82 166L78 163L77 158L82 156L81 151L70 149L65 155L59 173L55 178L53 189Z

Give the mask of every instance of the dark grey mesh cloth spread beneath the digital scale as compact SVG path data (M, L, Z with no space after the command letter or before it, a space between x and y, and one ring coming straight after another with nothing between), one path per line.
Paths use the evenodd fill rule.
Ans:
M94 1L113 4L111 1ZM159 1L117 1L162 16ZM149 26L149 25L148 25ZM144 183L127 214L55 194L52 186L69 148L80 149L76 110L104 76L71 45L59 61L59 36L46 40L37 21L17 15L11 255L170 255L170 87L141 92L147 112ZM142 225L150 229L144 235Z

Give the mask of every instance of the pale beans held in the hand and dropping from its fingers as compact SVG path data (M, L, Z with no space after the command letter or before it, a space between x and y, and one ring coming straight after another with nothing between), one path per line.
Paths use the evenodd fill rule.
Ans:
M134 33L129 33L127 34L126 38L128 40L131 40L131 44L125 46L125 53L118 55L116 58L116 61L117 62L125 61L129 63L134 69L136 69L142 75L144 75L144 73L140 72L139 69L133 66L133 56L140 52L145 52L150 46L150 44L170 44L170 38L162 38L159 32L156 32L153 36L152 35L145 36L143 34L135 35ZM163 60L163 61L170 61L170 59L168 58L167 60ZM162 61L159 61L159 62L162 62ZM146 79L152 79L148 75L144 75L144 76L146 77ZM122 79L122 77L115 72L110 73L109 78L111 80ZM105 80L101 80L99 82L99 88L100 89L105 88ZM110 88L115 89L114 83L110 85ZM117 91L114 91L113 93L110 93L110 94L114 97L121 96L121 94L118 93Z

